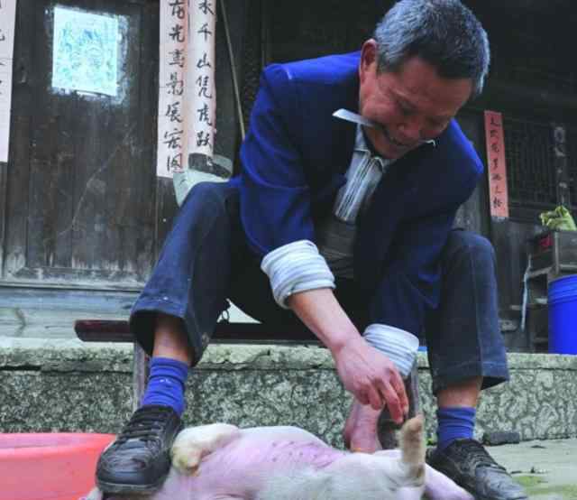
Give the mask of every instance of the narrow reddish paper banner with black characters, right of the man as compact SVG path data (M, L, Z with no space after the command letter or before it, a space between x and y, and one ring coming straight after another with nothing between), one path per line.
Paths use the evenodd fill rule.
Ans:
M490 215L508 218L507 164L503 117L495 111L485 111L487 141L487 173L489 175Z

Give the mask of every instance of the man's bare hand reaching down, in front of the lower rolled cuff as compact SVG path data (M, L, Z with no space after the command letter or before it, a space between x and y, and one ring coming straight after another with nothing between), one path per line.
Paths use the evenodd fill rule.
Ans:
M336 370L344 388L359 403L380 410L385 404L398 423L408 414L408 398L403 379L389 357L369 346L361 336L350 337L332 351Z

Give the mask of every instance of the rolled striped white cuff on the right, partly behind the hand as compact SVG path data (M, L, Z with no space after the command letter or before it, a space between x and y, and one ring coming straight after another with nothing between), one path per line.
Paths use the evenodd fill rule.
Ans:
M362 334L367 343L389 356L400 375L407 378L418 351L418 338L404 329L373 323Z

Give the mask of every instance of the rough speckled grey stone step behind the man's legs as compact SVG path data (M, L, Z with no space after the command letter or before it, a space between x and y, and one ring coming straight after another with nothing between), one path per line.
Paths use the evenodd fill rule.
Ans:
M129 344L74 338L0 337L0 431L115 432L132 408ZM510 354L511 381L482 394L477 437L517 431L522 440L577 437L577 356ZM426 431L435 440L435 398L419 354ZM185 421L298 425L334 446L351 397L321 347L217 345L188 378Z

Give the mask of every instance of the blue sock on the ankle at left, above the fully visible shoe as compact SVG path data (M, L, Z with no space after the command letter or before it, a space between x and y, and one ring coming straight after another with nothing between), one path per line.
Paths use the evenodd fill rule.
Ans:
M184 412L184 385L188 365L169 357L151 358L151 375L141 405L161 404L182 415Z

